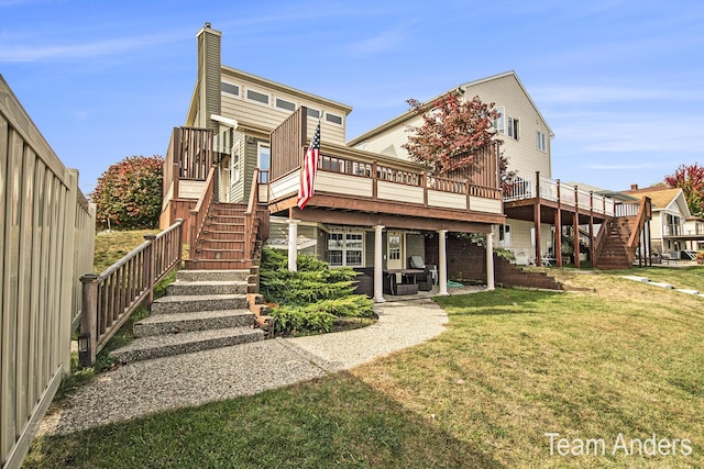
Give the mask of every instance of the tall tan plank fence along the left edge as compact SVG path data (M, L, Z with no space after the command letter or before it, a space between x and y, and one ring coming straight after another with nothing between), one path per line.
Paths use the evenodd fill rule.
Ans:
M95 208L0 76L0 465L20 467L65 373Z

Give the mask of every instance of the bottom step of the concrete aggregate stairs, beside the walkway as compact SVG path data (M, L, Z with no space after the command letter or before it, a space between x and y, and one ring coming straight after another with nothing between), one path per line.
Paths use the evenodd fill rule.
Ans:
M118 361L128 364L262 339L264 339L264 331L253 327L186 332L141 337L132 344L112 351L111 355Z

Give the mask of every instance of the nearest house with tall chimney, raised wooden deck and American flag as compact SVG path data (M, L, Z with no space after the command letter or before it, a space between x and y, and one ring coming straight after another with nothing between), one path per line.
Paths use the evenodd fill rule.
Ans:
M306 253L359 270L360 287L383 301L384 292L429 288L410 259L432 258L444 293L447 234L504 224L497 145L475 155L470 179L431 177L419 164L346 145L351 107L223 66L221 33L209 24L197 37L198 78L166 154L161 217L162 226L188 220L188 268L252 269L268 243L288 250L292 269ZM301 161L318 123L316 192L300 210ZM242 226L224 227L235 220Z

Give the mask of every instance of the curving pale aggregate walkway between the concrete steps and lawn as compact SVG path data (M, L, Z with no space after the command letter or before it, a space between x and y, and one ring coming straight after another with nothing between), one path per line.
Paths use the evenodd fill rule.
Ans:
M378 322L360 330L138 361L102 373L47 415L38 433L74 432L309 380L419 344L440 334L448 322L446 312L428 298L378 303L374 309Z

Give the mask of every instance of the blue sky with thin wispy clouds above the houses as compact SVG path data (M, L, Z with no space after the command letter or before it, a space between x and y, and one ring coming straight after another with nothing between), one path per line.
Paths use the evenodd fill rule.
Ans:
M164 155L207 21L223 64L352 105L348 139L515 70L556 134L553 178L618 190L704 164L694 0L0 0L0 74L88 193L125 156Z

